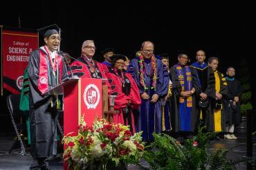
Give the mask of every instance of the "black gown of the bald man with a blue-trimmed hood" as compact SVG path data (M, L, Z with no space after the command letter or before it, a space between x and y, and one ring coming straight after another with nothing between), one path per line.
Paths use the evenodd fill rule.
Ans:
M196 88L196 111L198 112L198 115L200 117L200 114L202 113L202 120L205 124L205 120L208 119L208 115L212 113L212 106L210 100L215 99L215 77L213 70L210 66L206 66L205 68L198 68L196 66L190 66L191 72L197 75L197 78L199 79L199 86L195 86ZM208 106L205 108L201 108L199 106L199 100L200 100L200 93L205 93L208 95ZM197 118L197 125L199 126L199 117ZM207 118L206 118L207 117Z

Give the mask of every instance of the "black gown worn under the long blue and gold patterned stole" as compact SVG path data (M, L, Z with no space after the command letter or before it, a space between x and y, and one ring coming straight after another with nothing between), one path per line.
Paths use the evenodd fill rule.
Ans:
M184 67L183 73L185 73ZM190 67L191 70L191 67ZM170 75L172 79L172 97L170 97L171 100L171 124L174 131L178 132L181 131L181 119L179 115L179 95L181 93L181 83L179 82L179 77L177 75L177 70L175 66L172 66L170 69ZM195 88L196 86L199 86L199 82L196 78L196 75L194 75L194 72L192 72L192 86ZM196 123L197 123L197 117L198 111L196 111L196 93L192 95L192 111L191 111L191 117L190 117L190 124L192 132L196 130Z

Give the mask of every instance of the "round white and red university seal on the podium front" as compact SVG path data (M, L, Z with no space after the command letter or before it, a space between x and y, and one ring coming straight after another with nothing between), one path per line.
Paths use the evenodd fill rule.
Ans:
M84 89L84 104L88 109L95 109L100 102L100 91L95 84L89 84Z

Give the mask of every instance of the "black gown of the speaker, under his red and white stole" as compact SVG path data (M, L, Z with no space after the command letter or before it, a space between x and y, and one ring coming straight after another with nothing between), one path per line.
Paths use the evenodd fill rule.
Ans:
M39 50L33 51L28 64L28 78L30 86L30 132L31 155L33 158L47 158L57 154L57 111L51 107L52 95L41 95L39 82ZM57 86L57 79L53 77L51 64L48 63L48 88ZM62 57L62 82L68 79L66 65Z

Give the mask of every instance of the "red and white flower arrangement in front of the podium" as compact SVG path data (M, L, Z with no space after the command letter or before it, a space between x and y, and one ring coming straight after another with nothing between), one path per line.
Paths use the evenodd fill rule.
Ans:
M99 164L106 169L109 162L116 166L120 162L138 163L144 153L141 132L132 135L129 126L104 119L87 126L82 117L78 135L71 135L68 133L63 139L63 157L68 169L86 169Z

